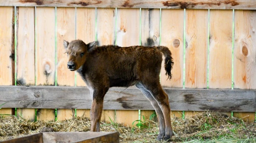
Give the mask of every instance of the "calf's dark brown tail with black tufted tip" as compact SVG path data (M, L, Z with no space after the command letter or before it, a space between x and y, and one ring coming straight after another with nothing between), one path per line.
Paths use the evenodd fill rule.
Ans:
M174 64L171 57L171 51L165 46L158 46L157 49L159 49L159 51L161 51L164 54L164 69L166 71L165 75L168 75L167 80L171 80L171 69Z

